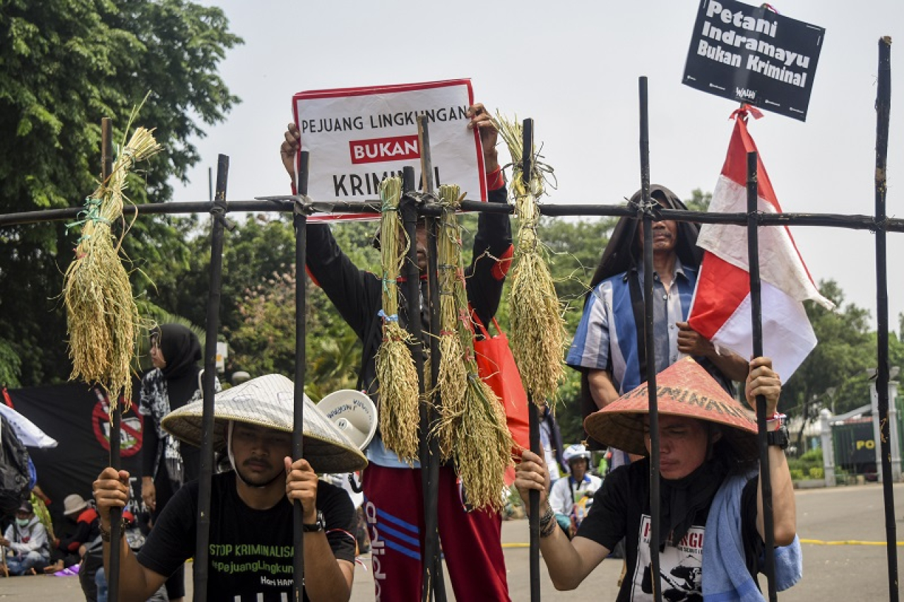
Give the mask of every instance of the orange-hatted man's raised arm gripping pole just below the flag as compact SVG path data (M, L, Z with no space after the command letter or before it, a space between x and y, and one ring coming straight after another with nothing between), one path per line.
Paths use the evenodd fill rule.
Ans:
M758 357L750 362L750 372L744 392L751 407L754 407L756 403L756 396L763 395L766 397L767 418L773 416L778 407L778 396L781 390L781 381L776 372L772 370L772 360L767 357ZM767 423L768 430L775 430L778 427L778 420ZM780 447L769 447L769 480L772 484L773 534L777 546L786 546L794 541L797 531L797 515L794 484L791 482L791 473L788 471L785 450ZM757 485L757 531L759 536L765 540L762 481L759 481Z

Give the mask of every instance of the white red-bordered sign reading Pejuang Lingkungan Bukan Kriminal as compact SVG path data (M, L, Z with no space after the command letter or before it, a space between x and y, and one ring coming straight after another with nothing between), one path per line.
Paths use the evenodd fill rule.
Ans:
M307 195L376 200L382 179L408 165L420 182L417 118L424 115L434 183L457 184L467 198L485 201L480 135L467 128L472 104L470 80L298 92L293 110L309 153Z

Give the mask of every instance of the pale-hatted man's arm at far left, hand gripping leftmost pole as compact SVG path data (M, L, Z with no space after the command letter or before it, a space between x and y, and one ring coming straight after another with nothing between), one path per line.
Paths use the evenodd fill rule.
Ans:
M110 532L110 508L125 508L128 503L128 473L107 467L94 482L94 500L98 504L101 535ZM109 576L109 537L104 540L104 571ZM116 542L119 546L119 596L128 602L144 602L164 584L166 578L151 569L138 564L135 554L125 537ZM109 580L109 577L108 577Z

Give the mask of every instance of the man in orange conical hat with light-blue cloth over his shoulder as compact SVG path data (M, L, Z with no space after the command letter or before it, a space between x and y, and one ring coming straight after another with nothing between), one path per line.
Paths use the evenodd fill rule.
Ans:
M787 430L775 413L781 384L768 358L749 365L747 400L765 396L767 416L774 417L768 421L768 460L775 542L786 546L775 551L781 590L794 585L801 571L794 488L784 453ZM762 599L740 596L757 591L764 553L756 420L691 358L656 380L662 500L660 541L654 542L661 567L656 587L669 600ZM604 444L649 456L647 402L642 385L592 414L585 428ZM531 490L540 492L541 552L556 588L578 587L625 538L627 577L617 600L653 599L648 457L609 473L572 541L555 528L542 458L525 451L516 475L525 503Z

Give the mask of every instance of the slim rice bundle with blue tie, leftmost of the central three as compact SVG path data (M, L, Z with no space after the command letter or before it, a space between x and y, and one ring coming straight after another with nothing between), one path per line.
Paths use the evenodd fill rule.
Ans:
M383 341L377 351L376 370L380 394L380 430L383 443L405 462L418 459L419 388L418 371L411 358L411 337L399 325L397 279L408 252L402 240L399 202L401 178L380 184L382 219L380 249L383 267Z

